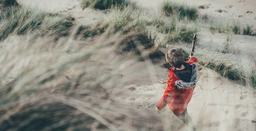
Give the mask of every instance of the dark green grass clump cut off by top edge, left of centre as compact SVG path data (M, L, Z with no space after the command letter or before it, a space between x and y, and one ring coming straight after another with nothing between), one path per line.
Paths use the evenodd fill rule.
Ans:
M117 7L118 9L122 10L128 5L135 8L135 3L129 0L81 0L80 4L83 10L86 7L91 7L99 10L106 10L112 7Z

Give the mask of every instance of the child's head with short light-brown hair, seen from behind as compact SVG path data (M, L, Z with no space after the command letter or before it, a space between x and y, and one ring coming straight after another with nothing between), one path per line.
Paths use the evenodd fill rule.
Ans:
M184 61L182 52L176 48L172 48L169 51L167 51L165 57L166 61L175 68L180 68Z

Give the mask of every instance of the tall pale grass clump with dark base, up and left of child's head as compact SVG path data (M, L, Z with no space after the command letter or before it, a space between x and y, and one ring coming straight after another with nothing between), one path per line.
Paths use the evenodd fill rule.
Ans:
M117 43L116 52L134 52L139 60L149 58L155 63L158 61L156 58L163 58L155 46L158 24L155 19L140 17L140 13L140 10L134 10L131 6L124 10L111 9L108 14L111 17L100 22L100 25L109 36L116 33L124 35L124 39Z

